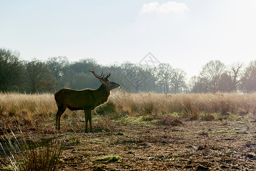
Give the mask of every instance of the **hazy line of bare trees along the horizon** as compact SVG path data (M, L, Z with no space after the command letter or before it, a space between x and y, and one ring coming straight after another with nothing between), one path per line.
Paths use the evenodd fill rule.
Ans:
M101 66L95 59L70 62L66 56L50 57L46 61L19 59L19 52L0 48L0 91L40 93L67 87L97 88L100 82L88 70L101 74L111 72L113 82L128 92L208 93L256 91L256 60L248 66L234 63L226 66L220 60L205 64L198 76L186 80L186 72L169 63L156 67L124 62Z

